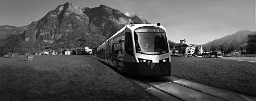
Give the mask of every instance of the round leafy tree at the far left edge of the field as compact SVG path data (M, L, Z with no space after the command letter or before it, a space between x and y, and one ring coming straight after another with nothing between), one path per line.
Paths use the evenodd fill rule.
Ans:
M2 47L7 49L11 53L11 57L15 52L19 52L22 48L22 38L19 35L9 34L1 41Z

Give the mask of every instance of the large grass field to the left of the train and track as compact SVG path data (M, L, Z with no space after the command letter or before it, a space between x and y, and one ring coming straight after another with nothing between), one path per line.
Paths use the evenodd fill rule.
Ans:
M1 100L158 100L92 56L0 58Z

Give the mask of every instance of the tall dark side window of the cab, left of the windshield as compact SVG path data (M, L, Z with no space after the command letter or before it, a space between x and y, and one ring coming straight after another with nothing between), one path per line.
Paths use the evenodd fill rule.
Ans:
M125 32L125 52L133 56L133 44L131 41L131 33Z

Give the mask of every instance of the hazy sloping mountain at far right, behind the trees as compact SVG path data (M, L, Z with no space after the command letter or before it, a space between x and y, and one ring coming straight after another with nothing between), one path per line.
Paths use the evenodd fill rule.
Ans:
M220 44L233 44L234 47L240 48L247 44L247 36L256 34L256 31L249 31L249 30L240 30L236 33L233 33L232 35L227 35L224 37L221 37L220 39L215 39L213 41L209 41L206 44L203 44L203 48L210 48L214 44L215 46Z

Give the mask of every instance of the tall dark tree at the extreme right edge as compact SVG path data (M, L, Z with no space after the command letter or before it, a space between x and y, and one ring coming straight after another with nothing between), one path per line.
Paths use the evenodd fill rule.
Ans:
M256 34L247 37L247 54L256 54Z

